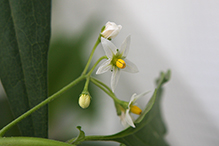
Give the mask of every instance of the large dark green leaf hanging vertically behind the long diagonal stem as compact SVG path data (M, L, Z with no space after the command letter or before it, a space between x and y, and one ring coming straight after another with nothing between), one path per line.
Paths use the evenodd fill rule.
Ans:
M0 1L0 78L14 117L47 97L50 0ZM23 136L48 136L47 106L22 120Z

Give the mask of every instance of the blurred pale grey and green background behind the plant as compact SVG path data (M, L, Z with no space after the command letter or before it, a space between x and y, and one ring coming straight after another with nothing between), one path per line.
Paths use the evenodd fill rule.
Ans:
M140 71L122 72L116 95L128 101L133 93L151 91L139 101L144 108L155 79L161 71L171 69L161 105L168 128L166 140L172 146L219 145L219 1L53 0L50 95L81 74L107 21L123 26L112 40L118 48L131 34L128 58ZM99 45L93 62L102 55ZM110 85L110 72L96 77ZM86 135L113 134L123 129L113 101L92 84L90 107L79 107L83 85L78 84L50 104L50 138L72 138L78 134L79 125ZM1 107L10 111L0 90ZM0 116L6 115L0 112ZM11 115L5 119L10 121Z

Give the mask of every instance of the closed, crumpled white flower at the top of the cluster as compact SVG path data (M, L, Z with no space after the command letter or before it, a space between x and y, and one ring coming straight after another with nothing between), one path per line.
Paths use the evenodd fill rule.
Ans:
M101 35L106 39L112 39L119 34L121 29L121 25L116 25L114 22L107 22L105 29L101 32Z

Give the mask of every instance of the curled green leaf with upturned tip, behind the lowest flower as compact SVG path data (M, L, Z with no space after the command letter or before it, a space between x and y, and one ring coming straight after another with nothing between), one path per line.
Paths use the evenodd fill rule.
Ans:
M86 140L117 141L126 146L164 146L166 128L161 116L160 101L162 85L169 81L170 71L161 73L157 88L142 115L135 121L136 128L127 129L109 136L87 136Z

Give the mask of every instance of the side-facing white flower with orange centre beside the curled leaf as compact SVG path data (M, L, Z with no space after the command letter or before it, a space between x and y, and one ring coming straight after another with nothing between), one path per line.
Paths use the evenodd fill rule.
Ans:
M134 122L133 122L133 118L132 116L130 115L130 112L134 113L134 114L137 114L137 115L140 115L142 110L134 105L135 104L135 101L144 96L145 94L147 94L148 92L145 92L145 93L141 93L139 95L137 95L136 93L132 95L130 101L129 101L129 104L128 104L128 108L125 110L125 111L122 111L121 112L121 115L120 115L120 119L121 119L121 123L124 127L126 127L127 125L130 125L132 126L133 128L135 128L135 125L134 125Z

